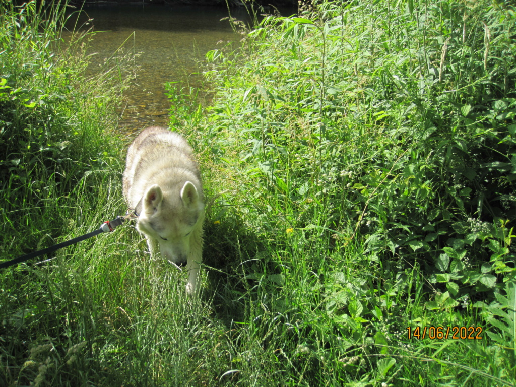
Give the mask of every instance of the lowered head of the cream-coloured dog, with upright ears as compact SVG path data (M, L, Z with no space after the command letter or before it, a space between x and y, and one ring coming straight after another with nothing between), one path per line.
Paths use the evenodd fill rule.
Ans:
M143 195L137 229L158 241L167 261L182 266L190 252L190 237L200 232L202 218L203 203L193 183L187 181L175 192L155 184Z

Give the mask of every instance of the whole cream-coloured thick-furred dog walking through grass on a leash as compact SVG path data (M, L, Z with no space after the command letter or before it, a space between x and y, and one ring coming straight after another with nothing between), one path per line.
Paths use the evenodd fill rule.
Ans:
M136 228L147 238L151 255L159 246L170 263L186 263L186 289L195 292L204 203L201 174L186 140L163 127L143 130L127 150L123 191L130 208L141 201Z

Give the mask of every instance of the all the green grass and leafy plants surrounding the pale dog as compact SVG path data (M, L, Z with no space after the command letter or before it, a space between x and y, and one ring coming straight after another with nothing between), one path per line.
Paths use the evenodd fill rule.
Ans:
M209 53L209 106L169 86L210 203L200 298L130 227L5 269L0 380L514 385L514 8L340 4L266 18L243 47ZM38 35L13 17L0 27L6 259L122 213L128 142L110 121L123 76L71 82L87 58L44 49L59 23ZM408 337L430 326L482 338Z

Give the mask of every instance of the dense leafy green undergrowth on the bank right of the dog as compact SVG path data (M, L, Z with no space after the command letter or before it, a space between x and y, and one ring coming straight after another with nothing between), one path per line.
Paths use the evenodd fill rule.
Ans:
M322 2L208 53L193 122L229 191L216 227L244 238L215 261L215 301L248 324L241 384L513 385L514 21L508 2Z

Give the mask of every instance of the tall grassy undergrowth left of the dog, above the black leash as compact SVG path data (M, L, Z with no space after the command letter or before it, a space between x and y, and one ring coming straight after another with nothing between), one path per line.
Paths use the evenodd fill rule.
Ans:
M119 152L106 147L104 130L113 125L113 106L127 87L119 77L131 63L86 78L88 34L65 38L62 26L73 19L65 3L1 6L0 238L5 255L7 246L13 254L19 252L16 246L30 250L53 244L45 235L65 229L67 214L77 209L68 193ZM102 98L96 95L100 90ZM35 232L22 236L21 227Z

